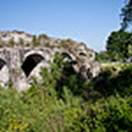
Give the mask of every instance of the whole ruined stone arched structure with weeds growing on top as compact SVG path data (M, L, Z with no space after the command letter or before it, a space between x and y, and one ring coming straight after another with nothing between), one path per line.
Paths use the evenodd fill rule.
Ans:
M56 52L76 61L73 68L86 79L100 71L95 52L84 43L18 31L0 32L0 85L6 88L11 81L18 91L26 90L31 78L39 79L41 68L49 67Z

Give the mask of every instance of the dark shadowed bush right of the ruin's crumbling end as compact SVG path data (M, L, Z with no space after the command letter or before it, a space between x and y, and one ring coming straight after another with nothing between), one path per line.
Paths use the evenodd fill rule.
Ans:
M86 89L87 98L96 99L117 93L122 97L130 96L132 94L132 66L124 67L118 73L115 70L107 68L94 78L90 82L89 88Z

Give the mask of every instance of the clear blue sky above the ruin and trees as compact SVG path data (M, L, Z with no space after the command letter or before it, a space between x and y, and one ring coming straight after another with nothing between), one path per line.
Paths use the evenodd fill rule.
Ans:
M125 0L0 0L0 30L46 33L105 49L107 37L120 28Z

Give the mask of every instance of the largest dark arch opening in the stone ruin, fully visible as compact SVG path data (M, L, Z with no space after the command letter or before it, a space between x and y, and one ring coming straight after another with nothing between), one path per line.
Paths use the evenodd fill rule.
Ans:
M44 60L43 56L37 53L28 55L26 57L25 61L22 64L22 69L27 77L42 60Z

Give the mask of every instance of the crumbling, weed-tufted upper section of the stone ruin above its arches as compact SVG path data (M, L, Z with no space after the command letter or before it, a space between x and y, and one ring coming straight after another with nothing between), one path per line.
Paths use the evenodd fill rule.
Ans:
M76 42L71 39L57 39L45 34L36 36L16 30L0 32L0 47L45 47L59 50L75 50L85 52L85 54L94 53L83 42Z

